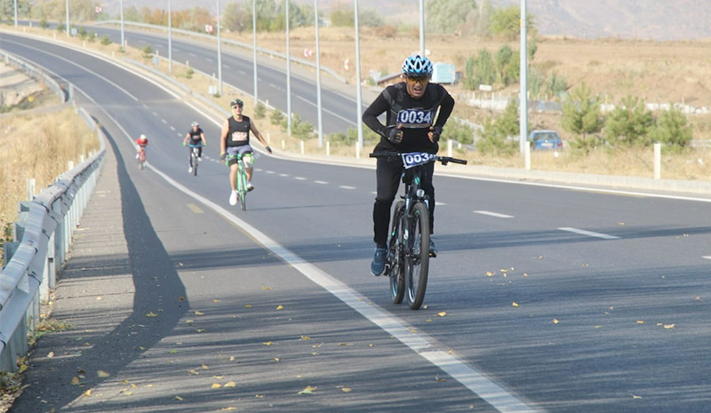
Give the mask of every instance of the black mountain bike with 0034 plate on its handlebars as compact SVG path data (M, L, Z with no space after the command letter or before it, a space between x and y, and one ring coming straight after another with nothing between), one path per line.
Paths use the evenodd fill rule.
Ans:
M417 310L425 299L429 271L429 196L420 187L424 165L467 164L467 161L424 152L378 152L370 156L403 160L404 195L393 210L384 274L390 279L393 303L400 304L406 297L408 306Z

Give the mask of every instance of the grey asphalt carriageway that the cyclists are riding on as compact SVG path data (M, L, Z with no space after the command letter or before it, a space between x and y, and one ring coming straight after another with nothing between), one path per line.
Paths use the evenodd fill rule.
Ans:
M530 408L518 411L711 411L707 202L440 175L440 256L431 264L427 308L411 312L390 304L387 280L368 271L373 171L260 156L257 189L241 212L228 206L227 170L211 160L219 129L208 119L80 52L10 35L1 47L75 83L105 109L88 104L126 163L124 185L135 187L146 234L155 234L146 248L177 274L164 294L184 293L191 312L214 313L204 324L212 334L182 339L180 351L194 362L244 354L251 385L242 389L243 411L516 411L514 401ZM196 178L180 146L192 119L205 125L210 141ZM155 170L137 171L133 149L112 120L132 138L148 135ZM252 232L188 194L244 219ZM291 266L255 243L265 236L289 251L283 252ZM350 291L356 298L349 301ZM139 298L150 299L137 290ZM245 314L246 303L255 311ZM240 322L226 322L235 313ZM157 349L175 345L194 318L180 315L157 338L155 356L127 361L124 374L177 383ZM488 379L462 385L444 373L444 359L435 365L427 349L395 339L404 333L378 327L388 320L402 322L415 340L435 340L444 359L451 349L464 361L464 376L473 371ZM260 345L269 341L278 345ZM290 362L268 362L274 357ZM449 371L463 377L455 370ZM304 402L293 390L303 384L294 377L305 374L319 389L354 390L348 398L324 391ZM207 406L209 390L196 393ZM270 407L254 399L262 393ZM162 402L125 399L122 406L160 411Z

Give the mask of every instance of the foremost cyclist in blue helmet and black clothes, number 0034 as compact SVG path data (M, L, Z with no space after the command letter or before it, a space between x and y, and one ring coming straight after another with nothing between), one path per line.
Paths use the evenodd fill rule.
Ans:
M363 113L363 123L380 135L373 152L427 152L436 154L437 142L444 123L454 108L454 99L441 84L430 83L432 62L425 56L415 54L403 62L403 82L395 83L382 91ZM387 112L386 124L378 116ZM403 174L401 159L379 158L375 172L378 195L373 205L373 241L375 253L371 263L373 275L383 274L387 254L387 229L390 223L390 208L400 177ZM430 231L434 233L435 187L432 175L435 163L427 163L427 171L421 177L421 185L429 196ZM437 256L435 242L430 239L430 257Z

